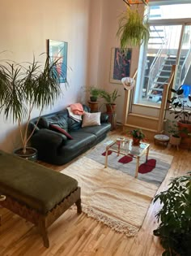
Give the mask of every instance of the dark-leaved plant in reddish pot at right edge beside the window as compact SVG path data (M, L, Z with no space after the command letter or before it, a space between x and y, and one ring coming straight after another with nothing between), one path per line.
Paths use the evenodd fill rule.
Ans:
M185 90L182 85L177 90L171 89L171 92L173 95L168 100L167 110L174 116L180 130L180 137L182 137L180 145L186 147L190 141L188 133L191 132L191 98L189 98L190 103L188 104L184 99Z

